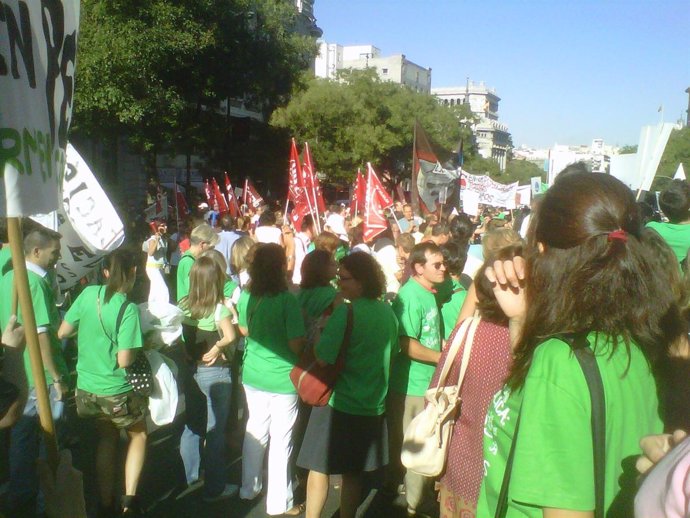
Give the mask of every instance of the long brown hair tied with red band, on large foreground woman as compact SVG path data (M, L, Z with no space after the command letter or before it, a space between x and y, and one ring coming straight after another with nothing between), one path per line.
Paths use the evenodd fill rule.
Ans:
M634 342L650 363L664 355L684 325L666 277L640 241L632 192L610 175L574 173L546 192L535 216L527 313L508 384L522 386L536 347L559 333L598 331L612 350ZM624 233L612 237L617 230Z

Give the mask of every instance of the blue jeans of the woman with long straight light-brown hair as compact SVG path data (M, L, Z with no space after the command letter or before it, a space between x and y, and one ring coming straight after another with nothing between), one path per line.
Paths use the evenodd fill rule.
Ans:
M227 366L198 366L194 380L199 390L206 396L206 442L203 451L204 492L207 496L217 496L225 488L226 479L225 426L230 415L230 396L232 394L230 368ZM199 398L186 398L186 404L188 413L203 412L202 408L193 407L200 404ZM202 435L199 430L195 431L189 423L185 425L182 432L180 455L184 463L188 484L199 478Z

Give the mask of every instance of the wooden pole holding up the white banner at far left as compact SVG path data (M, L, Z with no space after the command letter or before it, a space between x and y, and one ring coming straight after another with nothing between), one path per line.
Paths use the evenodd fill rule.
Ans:
M26 272L24 259L24 247L19 218L7 218L7 233L12 251L12 267L14 269L14 284L17 287L19 307L22 310L22 324L26 336L26 348L29 351L31 361L31 373L34 379L36 399L38 401L38 417L43 430L43 438L48 453L48 465L55 471L58 464L57 441L55 438L55 426L50 411L50 396L43 370L41 348L38 345L38 333L36 332L36 317L31 303L29 291L29 278Z

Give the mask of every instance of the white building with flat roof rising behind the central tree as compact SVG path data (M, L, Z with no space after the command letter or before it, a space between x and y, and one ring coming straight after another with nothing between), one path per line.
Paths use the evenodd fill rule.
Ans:
M431 69L413 63L405 54L383 56L373 45L321 42L314 61L316 77L335 79L340 70L348 69L374 69L382 81L405 85L416 92L431 92Z

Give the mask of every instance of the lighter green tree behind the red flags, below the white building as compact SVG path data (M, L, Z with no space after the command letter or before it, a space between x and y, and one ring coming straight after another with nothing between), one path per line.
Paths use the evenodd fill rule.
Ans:
M381 81L372 69L341 72L337 81L311 80L273 113L271 124L309 142L330 182L351 181L366 162L398 182L411 174L415 118L441 148L457 150L463 136L471 141L459 124L473 120L469 107L444 107L431 95ZM472 156L473 146L463 151Z

